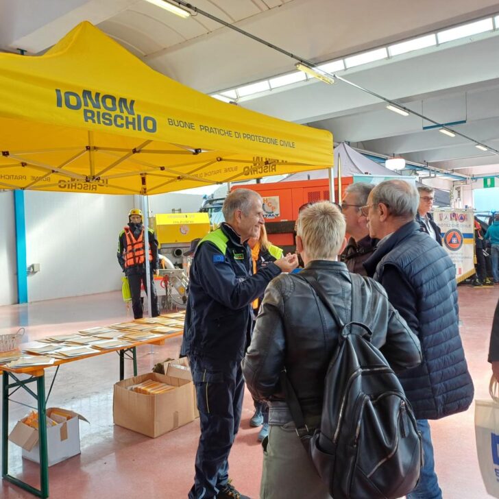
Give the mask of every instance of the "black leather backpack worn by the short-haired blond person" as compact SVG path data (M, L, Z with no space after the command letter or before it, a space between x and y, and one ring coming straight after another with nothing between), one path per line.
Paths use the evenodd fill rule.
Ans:
M304 278L339 327L339 344L324 379L321 424L312 434L295 391L281 382L296 432L334 499L391 499L417 485L422 466L421 435L400 381L372 345L361 319L361 276L352 276L352 321L343 324L334 306L310 276Z

